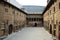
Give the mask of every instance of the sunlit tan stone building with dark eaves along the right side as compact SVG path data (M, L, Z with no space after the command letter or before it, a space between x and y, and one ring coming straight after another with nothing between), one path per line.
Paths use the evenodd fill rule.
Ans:
M43 12L44 27L60 40L60 0L51 0Z

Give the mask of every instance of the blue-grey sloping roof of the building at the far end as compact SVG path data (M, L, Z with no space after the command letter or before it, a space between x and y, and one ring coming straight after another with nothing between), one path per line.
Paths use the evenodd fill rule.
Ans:
M28 14L42 14L44 6L34 6L34 5L24 5L23 9L27 11Z

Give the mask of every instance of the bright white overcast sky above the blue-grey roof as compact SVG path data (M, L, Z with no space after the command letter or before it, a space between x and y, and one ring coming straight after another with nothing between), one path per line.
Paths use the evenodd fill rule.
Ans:
M46 6L47 0L16 0L21 5L36 5L36 6Z

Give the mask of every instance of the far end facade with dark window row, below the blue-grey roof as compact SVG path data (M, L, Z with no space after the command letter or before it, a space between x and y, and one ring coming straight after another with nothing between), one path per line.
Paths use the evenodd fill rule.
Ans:
M27 25L30 27L34 26L35 24L37 27L42 27L43 26L43 17L42 14L28 14L27 15Z

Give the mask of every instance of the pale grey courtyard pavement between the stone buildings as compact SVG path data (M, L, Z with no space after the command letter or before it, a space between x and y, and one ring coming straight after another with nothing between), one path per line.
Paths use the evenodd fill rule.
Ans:
M53 40L51 34L43 27L25 27L19 32L9 35L4 40Z

